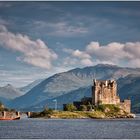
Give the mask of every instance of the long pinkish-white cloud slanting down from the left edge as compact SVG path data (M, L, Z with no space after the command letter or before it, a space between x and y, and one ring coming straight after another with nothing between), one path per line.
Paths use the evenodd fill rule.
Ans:
M0 25L0 46L21 53L17 60L33 66L50 69L57 54L47 47L40 39L31 40L28 36L9 32Z

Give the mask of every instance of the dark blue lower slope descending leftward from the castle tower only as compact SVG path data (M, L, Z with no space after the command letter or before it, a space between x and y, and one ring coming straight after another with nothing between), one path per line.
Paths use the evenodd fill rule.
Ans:
M25 111L40 111L46 106L49 108L54 108L55 102L57 100L57 109L63 109L63 104L73 103L73 101L80 101L83 97L91 97L91 86L79 88L74 91L70 91L67 94L58 96L56 98L46 99L36 105L24 108Z

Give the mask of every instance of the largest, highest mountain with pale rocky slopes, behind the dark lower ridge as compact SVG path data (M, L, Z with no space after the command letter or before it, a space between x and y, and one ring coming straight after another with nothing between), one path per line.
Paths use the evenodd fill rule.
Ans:
M12 100L9 107L24 109L36 106L54 98L62 98L69 93L75 92L83 87L91 86L94 77L96 79L119 79L129 74L140 74L140 69L123 68L115 65L99 64L96 66L76 68L67 72L55 74L33 87L25 95ZM73 94L75 100L76 94ZM81 98L81 96L79 96ZM66 100L69 99L67 96ZM71 101L72 101L71 100Z

